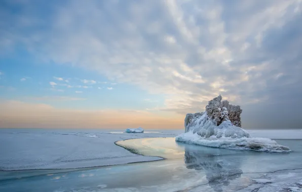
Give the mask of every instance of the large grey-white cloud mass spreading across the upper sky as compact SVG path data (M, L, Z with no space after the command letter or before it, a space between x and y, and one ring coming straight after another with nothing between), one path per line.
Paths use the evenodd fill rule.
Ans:
M254 107L272 107L275 119L284 119L279 108L291 114L288 105L302 105L301 1L67 1L50 6L53 12L44 22L32 19L39 18L38 12L25 8L18 15L4 12L10 20L3 23L0 50L21 42L42 61L72 64L162 94L165 106L159 109L182 115L203 110L219 93L243 105L246 114ZM24 26L22 18L31 19L30 25ZM268 121L278 124L273 115Z

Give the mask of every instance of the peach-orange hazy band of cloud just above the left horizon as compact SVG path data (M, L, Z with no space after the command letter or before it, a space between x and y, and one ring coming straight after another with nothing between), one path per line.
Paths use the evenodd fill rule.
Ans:
M182 120L135 110L57 109L46 104L0 101L1 128L180 128ZM119 120L117 121L117 118ZM135 117L135 121L133 121Z

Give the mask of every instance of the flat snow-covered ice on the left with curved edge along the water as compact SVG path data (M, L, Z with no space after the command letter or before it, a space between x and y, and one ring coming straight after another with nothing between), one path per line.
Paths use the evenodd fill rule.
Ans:
M174 137L181 130L114 133L104 129L0 129L0 170L63 169L160 160L130 153L115 141ZM5 147L3 147L5 146Z

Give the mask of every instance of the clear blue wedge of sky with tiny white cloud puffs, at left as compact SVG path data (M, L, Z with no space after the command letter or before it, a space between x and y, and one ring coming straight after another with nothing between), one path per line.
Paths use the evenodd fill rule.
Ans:
M2 57L2 99L43 102L56 108L145 110L162 106L162 95L108 80L98 72L58 63L40 63L26 51ZM60 102L61 101L61 102Z

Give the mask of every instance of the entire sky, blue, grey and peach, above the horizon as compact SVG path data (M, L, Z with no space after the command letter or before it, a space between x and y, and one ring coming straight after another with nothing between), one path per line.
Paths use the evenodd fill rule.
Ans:
M0 2L0 127L182 129L219 94L301 128L302 1Z

